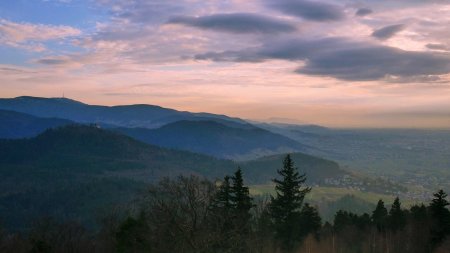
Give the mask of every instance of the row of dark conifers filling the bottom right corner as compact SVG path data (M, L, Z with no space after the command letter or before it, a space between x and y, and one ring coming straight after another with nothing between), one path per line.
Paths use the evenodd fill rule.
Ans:
M338 211L331 232L323 233L317 245L346 253L450 252L448 203L442 190L434 197L429 206L414 205L409 210L402 209L396 198L389 212L380 200L371 216Z

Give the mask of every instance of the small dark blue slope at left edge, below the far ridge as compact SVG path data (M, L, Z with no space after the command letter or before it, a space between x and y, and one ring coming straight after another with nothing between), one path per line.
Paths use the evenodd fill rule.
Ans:
M16 139L36 136L48 128L73 124L57 118L38 118L29 114L0 110L0 139Z

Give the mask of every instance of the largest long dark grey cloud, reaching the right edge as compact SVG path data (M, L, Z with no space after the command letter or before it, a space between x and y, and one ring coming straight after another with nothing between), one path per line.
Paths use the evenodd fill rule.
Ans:
M431 82L439 75L450 73L450 56L446 54L404 51L343 38L290 39L267 43L258 49L210 52L196 58L244 62L301 60L304 66L296 71L298 73L348 81L417 77L417 80Z

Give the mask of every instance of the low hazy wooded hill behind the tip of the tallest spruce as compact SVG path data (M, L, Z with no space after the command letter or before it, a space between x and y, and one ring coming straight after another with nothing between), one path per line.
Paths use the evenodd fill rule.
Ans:
M269 183L276 177L276 170L281 169L285 155L272 155L260 159L241 162L245 175L255 182ZM342 178L350 175L342 170L336 162L302 153L293 153L291 158L300 173L306 173L308 184L322 184L326 179Z

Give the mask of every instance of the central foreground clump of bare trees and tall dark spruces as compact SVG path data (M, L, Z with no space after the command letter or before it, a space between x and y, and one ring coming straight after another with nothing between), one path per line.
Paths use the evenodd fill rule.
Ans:
M291 252L311 232L319 235L321 218L303 205L310 189L289 156L279 174L270 204L253 201L240 168L217 184L195 176L165 179L119 226L117 251Z

